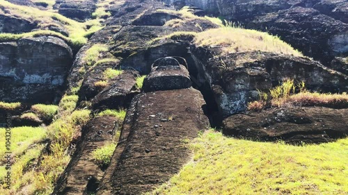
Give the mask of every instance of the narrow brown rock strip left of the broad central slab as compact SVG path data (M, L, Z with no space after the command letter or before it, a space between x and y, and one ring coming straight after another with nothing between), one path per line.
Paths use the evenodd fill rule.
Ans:
M88 194L97 188L104 171L91 153L113 139L115 117L97 117L90 121L81 135L72 160L58 180L52 194Z

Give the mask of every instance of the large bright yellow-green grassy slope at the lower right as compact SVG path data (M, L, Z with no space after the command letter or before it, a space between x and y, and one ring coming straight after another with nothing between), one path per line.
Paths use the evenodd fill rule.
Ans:
M348 138L291 146L208 130L193 159L151 194L348 194Z

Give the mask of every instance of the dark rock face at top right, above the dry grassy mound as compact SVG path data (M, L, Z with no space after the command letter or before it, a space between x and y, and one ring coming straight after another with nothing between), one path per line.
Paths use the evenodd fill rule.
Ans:
M239 22L246 28L279 35L324 65L348 51L348 3L344 0L187 0L184 3Z

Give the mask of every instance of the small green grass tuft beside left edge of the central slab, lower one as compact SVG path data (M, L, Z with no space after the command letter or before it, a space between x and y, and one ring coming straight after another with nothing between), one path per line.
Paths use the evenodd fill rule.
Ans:
M113 151L116 149L116 145L113 142L106 143L104 146L96 149L92 152L92 156L100 166L107 166L111 161L111 156L113 155Z

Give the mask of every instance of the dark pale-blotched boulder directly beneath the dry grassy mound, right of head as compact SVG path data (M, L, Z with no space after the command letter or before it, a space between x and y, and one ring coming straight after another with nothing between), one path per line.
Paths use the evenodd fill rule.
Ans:
M193 55L205 65L207 80L223 118L244 112L249 102L259 99L258 90L267 91L288 78L304 81L310 90L348 90L348 76L308 58L258 51L214 58L211 52L198 48ZM221 67L221 60L226 67Z

